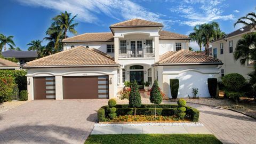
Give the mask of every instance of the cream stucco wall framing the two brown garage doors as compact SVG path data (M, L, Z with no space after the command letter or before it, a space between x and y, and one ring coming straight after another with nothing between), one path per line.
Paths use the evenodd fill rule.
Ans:
M116 97L117 94L117 67L95 67L95 68L34 68L27 69L28 74L28 99L34 100L34 79L33 77L55 76L56 100L63 99L62 76L101 76L108 75L109 98Z

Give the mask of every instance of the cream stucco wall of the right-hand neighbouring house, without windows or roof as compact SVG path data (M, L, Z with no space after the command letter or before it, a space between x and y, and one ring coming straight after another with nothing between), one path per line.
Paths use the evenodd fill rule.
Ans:
M236 43L239 39L241 39L241 37L242 35L237 35L227 38L227 41L222 39L221 41L212 43L212 53L213 49L217 48L217 58L223 63L219 70L221 71L221 69L224 69L225 75L230 73L238 73L248 79L249 76L247 74L253 70L253 66L247 65L247 63L243 66L239 60L235 61L233 57L236 49ZM233 41L233 53L229 53L229 41ZM223 43L223 54L220 54L220 43Z

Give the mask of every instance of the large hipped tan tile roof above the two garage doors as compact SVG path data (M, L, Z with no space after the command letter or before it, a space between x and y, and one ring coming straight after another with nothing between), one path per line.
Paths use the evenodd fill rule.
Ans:
M107 55L107 54L106 54ZM73 49L58 52L41 59L27 62L24 68L29 67L87 67L87 66L118 66L112 59L88 49L77 46Z

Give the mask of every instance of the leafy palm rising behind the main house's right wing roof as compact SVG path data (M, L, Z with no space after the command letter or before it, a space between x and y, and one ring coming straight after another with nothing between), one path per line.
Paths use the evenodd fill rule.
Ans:
M202 42L205 45L205 55L209 55L210 42L222 37L219 23L204 23L202 25L197 25L196 29L198 29L199 36L202 37Z

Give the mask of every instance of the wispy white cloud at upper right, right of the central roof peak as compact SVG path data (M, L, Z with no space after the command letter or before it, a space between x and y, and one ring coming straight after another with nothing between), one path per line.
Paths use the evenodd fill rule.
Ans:
M233 14L222 14L223 11L221 9L221 5L221 0L184 0L178 8L172 8L170 11L173 13L179 13L180 17L185 18L185 20L180 20L180 23L188 26L196 26L198 24L208 23L214 20L233 20Z

